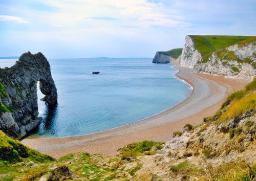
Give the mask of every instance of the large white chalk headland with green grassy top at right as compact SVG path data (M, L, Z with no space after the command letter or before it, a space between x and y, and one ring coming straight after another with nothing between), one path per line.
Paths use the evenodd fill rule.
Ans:
M252 79L256 69L256 37L188 35L179 63L199 73Z

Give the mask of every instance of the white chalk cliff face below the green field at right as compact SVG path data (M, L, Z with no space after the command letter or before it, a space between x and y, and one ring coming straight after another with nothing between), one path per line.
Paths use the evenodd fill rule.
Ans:
M211 45L204 45L206 49L207 46ZM202 55L193 38L186 36L179 63L181 66L193 68L194 72L198 73L252 79L256 68L256 38Z

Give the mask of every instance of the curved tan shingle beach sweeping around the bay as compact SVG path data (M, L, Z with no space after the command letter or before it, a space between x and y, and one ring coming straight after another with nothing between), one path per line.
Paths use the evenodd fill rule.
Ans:
M182 130L185 124L198 125L204 117L215 114L229 94L248 83L241 79L194 74L191 69L180 66L176 68L180 70L176 76L193 86L193 91L189 98L175 107L153 117L99 133L67 138L26 138L22 143L58 159L76 152L113 155L120 147L142 140L168 141L172 139L173 132Z

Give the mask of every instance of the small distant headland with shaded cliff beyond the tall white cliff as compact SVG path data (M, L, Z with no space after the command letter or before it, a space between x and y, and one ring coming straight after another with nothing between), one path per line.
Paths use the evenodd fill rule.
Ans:
M152 63L178 63L182 49L157 52Z

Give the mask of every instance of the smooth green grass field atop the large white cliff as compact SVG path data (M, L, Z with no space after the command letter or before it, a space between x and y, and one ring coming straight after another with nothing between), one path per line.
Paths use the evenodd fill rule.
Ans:
M224 49L232 46L240 41L240 44L249 42L249 39L255 39L255 36L217 36L217 35L189 35L194 43L195 48L201 53L202 56L206 56L214 51ZM247 41L244 41L247 40Z

